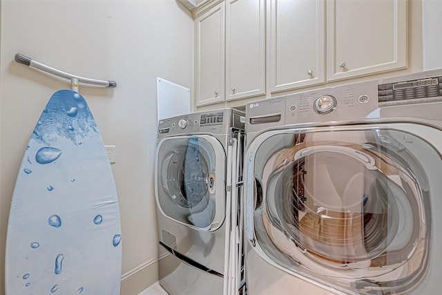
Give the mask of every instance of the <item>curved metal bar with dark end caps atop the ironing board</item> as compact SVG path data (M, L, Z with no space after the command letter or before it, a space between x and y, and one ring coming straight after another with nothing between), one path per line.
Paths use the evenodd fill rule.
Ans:
M79 85L78 85L79 82L85 84L97 85L97 86L104 86L109 88L117 87L117 82L115 81L89 79L85 77L79 77L77 75L72 75L70 73L57 70L56 68L51 68L50 66L46 66L45 64L41 64L38 61L30 59L30 57L27 57L26 55L22 55L21 53L17 53L15 55L15 61L17 61L19 64L24 64L32 68L43 70L44 72L50 73L52 75L56 75L65 79L70 79L71 89L77 93L79 91Z

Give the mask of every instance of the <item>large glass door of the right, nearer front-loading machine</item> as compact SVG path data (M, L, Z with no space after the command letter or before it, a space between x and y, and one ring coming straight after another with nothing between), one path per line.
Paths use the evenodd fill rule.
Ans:
M248 149L247 236L278 267L335 289L416 287L442 189L440 133L418 124L263 133Z

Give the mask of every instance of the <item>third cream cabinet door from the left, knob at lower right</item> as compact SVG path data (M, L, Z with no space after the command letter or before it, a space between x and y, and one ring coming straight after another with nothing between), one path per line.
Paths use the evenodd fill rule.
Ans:
M324 83L324 0L271 0L270 91Z

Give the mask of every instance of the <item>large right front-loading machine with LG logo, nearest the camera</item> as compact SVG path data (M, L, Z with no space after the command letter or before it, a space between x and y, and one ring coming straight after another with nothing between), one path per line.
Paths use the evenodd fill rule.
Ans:
M440 294L442 70L246 113L249 294Z

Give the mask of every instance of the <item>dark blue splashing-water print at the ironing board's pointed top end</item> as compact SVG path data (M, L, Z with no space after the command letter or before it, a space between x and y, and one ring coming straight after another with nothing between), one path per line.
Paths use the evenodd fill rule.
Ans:
M59 137L77 145L79 138L88 137L90 132L98 132L84 98L70 90L57 91L52 95L39 122L41 124L35 126L32 139L49 146Z

